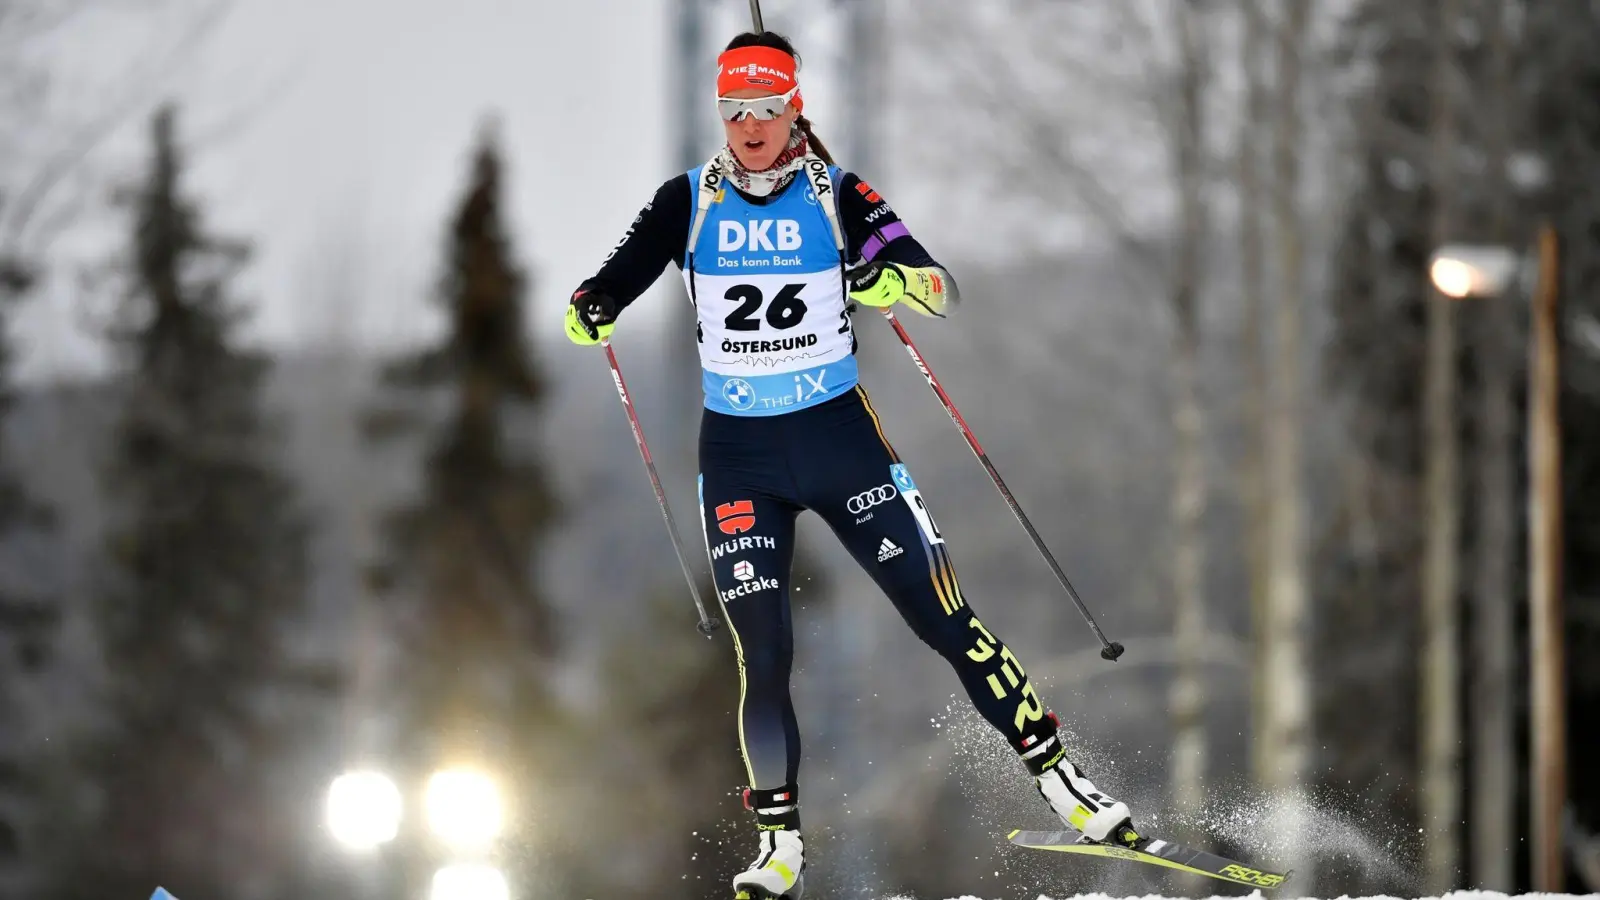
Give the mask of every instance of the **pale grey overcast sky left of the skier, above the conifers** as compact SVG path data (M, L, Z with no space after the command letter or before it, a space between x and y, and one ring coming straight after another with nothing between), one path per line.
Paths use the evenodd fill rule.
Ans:
M192 192L214 226L258 243L258 333L430 333L422 296L491 112L522 259L541 299L565 295L670 171L664 14L645 0L235 0L165 93L186 104ZM102 16L64 30L66 83L115 78L136 45L155 43L144 26ZM136 171L144 127L130 120L96 170ZM80 255L106 240L102 203L90 211L96 223L64 242ZM339 285L358 293L355 309L334 309ZM96 356L75 311L64 287L29 311L30 372Z

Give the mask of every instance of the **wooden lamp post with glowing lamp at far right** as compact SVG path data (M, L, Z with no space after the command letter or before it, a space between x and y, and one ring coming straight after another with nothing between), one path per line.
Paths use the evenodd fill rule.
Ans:
M1533 748L1533 887L1562 890L1566 798L1566 692L1562 639L1560 303L1555 229L1539 229L1528 344L1528 599ZM1429 274L1453 298L1498 296L1526 271L1506 247L1445 245Z

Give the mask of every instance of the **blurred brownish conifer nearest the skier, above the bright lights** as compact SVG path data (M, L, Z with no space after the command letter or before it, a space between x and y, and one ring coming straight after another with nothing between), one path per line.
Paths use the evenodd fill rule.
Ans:
M421 496L387 517L371 569L398 641L403 769L477 765L515 802L538 793L566 729L549 682L555 613L536 578L560 504L538 456L546 388L502 191L499 143L485 128L445 240L445 335L387 367L392 397L368 434L421 432L426 447Z

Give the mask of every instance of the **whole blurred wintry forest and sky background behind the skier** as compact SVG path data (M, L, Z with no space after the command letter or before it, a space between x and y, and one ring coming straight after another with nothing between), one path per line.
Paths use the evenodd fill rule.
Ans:
M1600 890L1600 6L768 0L962 282L864 380L1157 834ZM717 149L731 0L0 0L0 897L720 897L707 642L560 315ZM618 331L694 533L675 277ZM1243 894L1005 844L1021 764L814 517L810 886ZM1048 858L1046 858L1048 857ZM1136 871L1138 870L1138 871Z

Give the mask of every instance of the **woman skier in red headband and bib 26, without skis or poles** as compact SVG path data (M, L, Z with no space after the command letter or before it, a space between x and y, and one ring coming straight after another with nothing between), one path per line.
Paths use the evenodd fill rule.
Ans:
M802 509L832 527L917 637L955 668L1061 820L1133 846L1126 804L1066 759L1054 714L966 605L949 548L858 384L854 304L942 319L957 306L955 280L877 191L834 165L802 114L800 59L784 37L741 34L717 62L726 146L656 191L573 291L565 325L576 344L597 344L667 263L682 269L696 307L701 524L739 665L744 801L760 836L734 895L802 889L800 729L789 695L789 567Z

